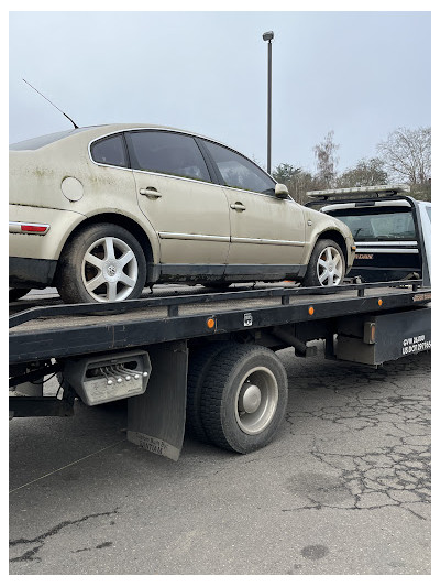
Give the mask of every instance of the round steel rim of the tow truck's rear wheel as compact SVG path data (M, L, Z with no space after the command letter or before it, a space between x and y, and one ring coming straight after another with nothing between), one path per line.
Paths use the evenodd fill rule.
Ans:
M278 405L278 383L265 367L251 369L235 395L235 420L250 435L260 434L272 422Z

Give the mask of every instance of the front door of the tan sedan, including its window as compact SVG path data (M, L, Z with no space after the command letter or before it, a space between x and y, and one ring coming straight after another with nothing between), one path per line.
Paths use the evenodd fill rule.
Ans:
M231 220L228 264L266 265L265 271L299 265L305 247L302 209L275 196L275 182L250 160L204 141L224 182ZM282 271L283 272L283 271Z

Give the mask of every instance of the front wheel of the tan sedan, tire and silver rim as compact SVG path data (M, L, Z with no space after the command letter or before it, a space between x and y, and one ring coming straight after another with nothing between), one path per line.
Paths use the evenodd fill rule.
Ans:
M302 285L330 287L340 285L345 275L345 258L341 247L330 239L318 240L311 252Z

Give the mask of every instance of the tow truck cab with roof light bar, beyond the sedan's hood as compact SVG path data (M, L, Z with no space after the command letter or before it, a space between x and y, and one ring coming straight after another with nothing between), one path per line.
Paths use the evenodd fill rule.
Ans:
M356 246L350 278L366 283L422 279L430 285L431 203L408 193L406 185L314 191L306 206L350 228Z

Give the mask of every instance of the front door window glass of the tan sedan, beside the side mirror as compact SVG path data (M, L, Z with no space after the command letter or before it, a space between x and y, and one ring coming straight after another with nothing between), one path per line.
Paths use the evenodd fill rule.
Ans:
M275 195L275 182L246 157L220 144L204 141L229 187Z

